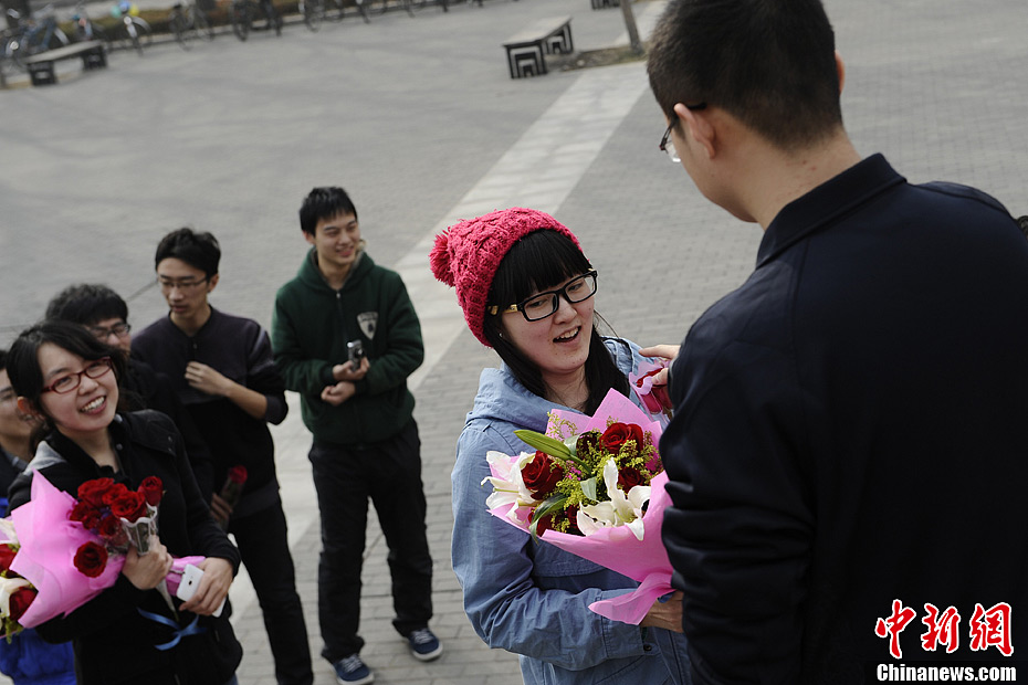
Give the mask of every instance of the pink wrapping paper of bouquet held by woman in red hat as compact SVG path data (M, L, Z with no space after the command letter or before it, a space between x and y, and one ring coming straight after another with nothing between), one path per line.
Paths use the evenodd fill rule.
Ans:
M553 413L558 419L574 424L576 433L590 430L602 432L607 429L608 419L613 419L622 423L641 425L643 431L652 434L654 444L660 440L660 424L649 420L638 407L616 390L607 393L594 417L560 410L555 410ZM558 422L550 418L546 434L556 438L558 428ZM512 456L511 459L513 461L517 457ZM493 475L499 476L501 474L494 470ZM650 607L653 605L653 602L672 591L671 561L660 538L664 509L670 503L664 487L667 483L668 474L663 472L655 475L650 482L650 503L642 517L643 536L641 540L637 539L631 530L625 526L604 528L587 537L557 533L556 530L546 530L541 536L541 539L559 547L564 551L588 559L594 563L639 581L639 587L627 594L589 604L589 609L595 613L613 621L638 625L650 610ZM495 507L490 509L490 514L527 531L528 508L522 507L524 512L517 513L518 520L523 521L520 525L508 517L512 506Z

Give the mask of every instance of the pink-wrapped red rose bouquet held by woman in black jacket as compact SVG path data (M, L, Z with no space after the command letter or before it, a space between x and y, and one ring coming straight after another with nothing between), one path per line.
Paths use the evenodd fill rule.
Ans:
M161 487L157 477L144 479L138 491L111 478L94 478L80 486L76 500L41 473L33 474L31 500L0 519L0 536L4 538L0 540L0 557L4 548L14 552L0 572L3 634L67 614L112 587L125 566L128 546L139 547L139 529L148 535L151 526L156 527ZM139 554L145 549L139 548ZM202 560L175 559L165 580L167 587L161 589L169 605L167 592L175 592L182 569ZM2 584L8 579L15 580L18 587L8 590ZM29 598L23 593L14 601L14 593L24 588L34 594ZM10 600L4 602L7 597Z

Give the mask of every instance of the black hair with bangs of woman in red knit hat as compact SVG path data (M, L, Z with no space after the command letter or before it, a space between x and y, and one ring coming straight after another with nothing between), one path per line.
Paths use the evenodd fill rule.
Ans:
M556 231L533 231L517 241L500 262L489 291L490 305L506 307L522 302L533 293L552 289L590 268L592 265L589 264L589 260L566 235ZM485 315L485 339L510 367L517 382L534 394L547 397L546 383L543 382L539 368L508 339L500 336L501 317L502 314ZM584 409L589 414L596 411L611 388L626 397L629 392L628 379L618 369L610 351L604 345L602 337L596 330L597 319L604 320L599 315L594 315L589 358L585 363L589 394Z

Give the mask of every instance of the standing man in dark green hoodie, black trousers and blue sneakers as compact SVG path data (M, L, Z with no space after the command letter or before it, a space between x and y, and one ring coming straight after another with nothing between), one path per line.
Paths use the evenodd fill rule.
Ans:
M357 634L368 497L389 546L392 624L416 658L442 653L428 629L432 559L421 442L407 389L424 348L403 282L365 252L357 209L342 188L312 190L300 208L300 226L312 247L275 296L272 346L314 435L322 655L339 683L371 683Z

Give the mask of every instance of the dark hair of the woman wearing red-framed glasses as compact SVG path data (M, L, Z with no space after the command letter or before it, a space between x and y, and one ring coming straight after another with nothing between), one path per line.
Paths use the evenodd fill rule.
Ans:
M11 379L14 392L25 398L32 409L43 419L30 439L33 452L39 443L54 430L53 421L40 402L43 394L43 370L40 368L39 351L45 342L56 345L65 351L82 357L85 361L111 357L111 367L114 369L115 378L120 380L125 377L125 356L118 349L97 340L77 324L48 320L23 330L8 352L7 375ZM120 401L122 397L118 393L119 404Z

